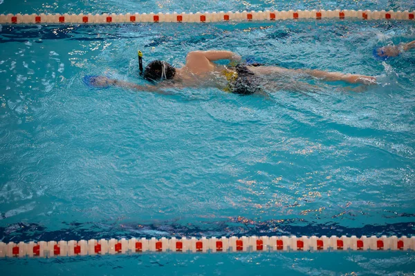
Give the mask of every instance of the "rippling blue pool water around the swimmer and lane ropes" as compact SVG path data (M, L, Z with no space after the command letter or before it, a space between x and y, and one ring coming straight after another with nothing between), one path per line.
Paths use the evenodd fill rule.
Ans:
M4 0L0 12L415 9L413 1L338 2ZM415 51L382 63L372 50L414 39L414 23L403 21L1 26L0 240L412 235ZM145 62L174 66L192 50L232 50L270 65L373 75L380 85L353 92L316 80L317 91L239 97L82 82L145 83L139 49ZM0 264L18 275L411 275L414 258L147 254Z

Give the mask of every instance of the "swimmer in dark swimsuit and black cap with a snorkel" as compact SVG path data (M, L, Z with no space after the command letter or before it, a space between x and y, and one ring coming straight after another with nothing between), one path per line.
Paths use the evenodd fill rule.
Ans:
M223 66L214 63L227 59L236 66ZM296 81L293 77L315 77L326 81L345 81L347 83L376 83L375 77L365 75L342 74L322 70L287 69L279 66L264 66L259 63L246 64L241 56L225 50L189 52L185 66L174 68L165 61L151 61L142 73L142 77L151 84L137 85L127 81L107 77L90 77L89 84L95 87L120 86L141 91L160 92L166 88L216 87L239 95L251 95L263 88L278 87L286 90L310 90L316 86ZM290 79L291 78L291 79ZM271 79L271 80L270 80ZM275 81L275 79L279 81ZM268 90L268 89L267 89Z

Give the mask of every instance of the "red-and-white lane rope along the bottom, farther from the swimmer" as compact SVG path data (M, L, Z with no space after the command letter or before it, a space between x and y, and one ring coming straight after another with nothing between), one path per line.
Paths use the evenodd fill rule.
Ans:
M0 242L0 257L72 257L86 255L116 255L136 253L235 253L235 252L293 252L293 251L387 251L415 250L415 236L273 236L221 237L177 239L90 239L89 241Z

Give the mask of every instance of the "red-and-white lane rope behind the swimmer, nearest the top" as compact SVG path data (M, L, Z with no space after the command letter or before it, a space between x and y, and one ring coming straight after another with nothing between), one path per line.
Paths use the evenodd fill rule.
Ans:
M127 14L0 14L0 24L13 23L84 23L111 24L137 22L219 22L219 21L274 21L284 19L362 19L414 20L415 12L393 10L282 10L264 12L151 12Z

